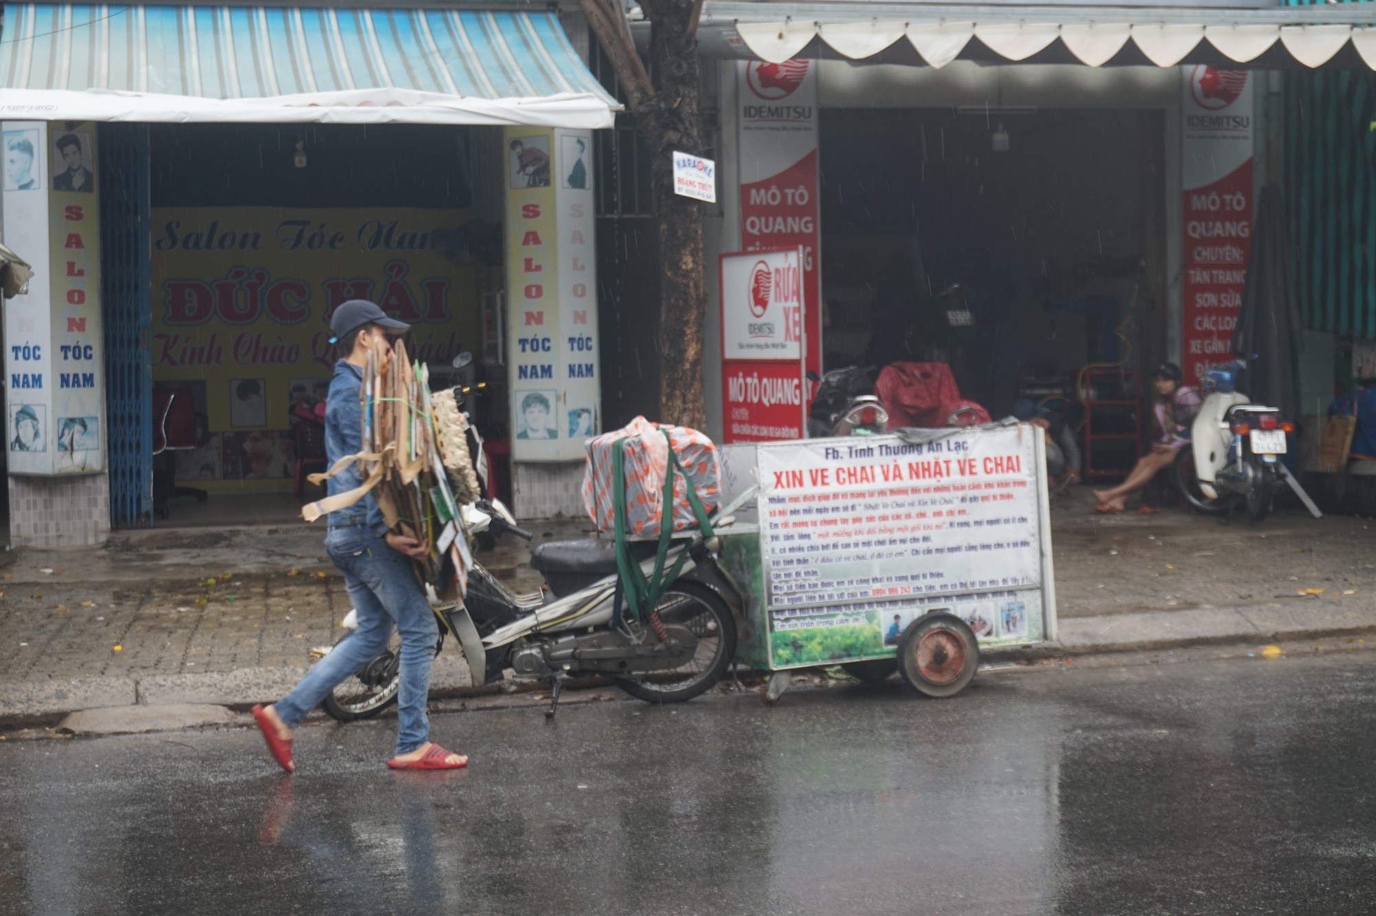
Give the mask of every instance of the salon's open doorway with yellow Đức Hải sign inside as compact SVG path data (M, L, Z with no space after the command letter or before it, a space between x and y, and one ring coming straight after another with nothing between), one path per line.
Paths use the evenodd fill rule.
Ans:
M319 488L338 358L329 316L369 298L413 358L483 353L502 286L501 128L150 125L154 514L299 520ZM476 411L505 439L502 380ZM157 422L161 418L161 422ZM165 448L165 451L164 451Z

